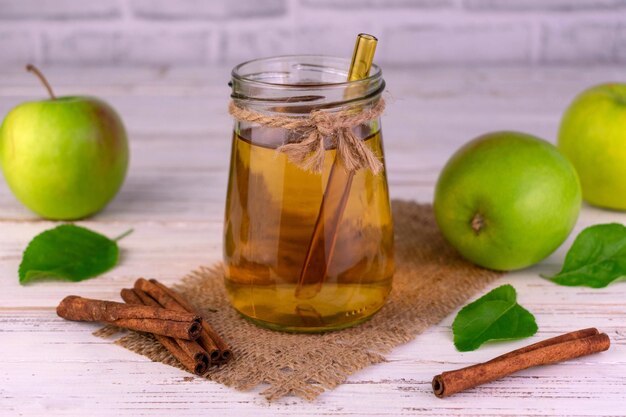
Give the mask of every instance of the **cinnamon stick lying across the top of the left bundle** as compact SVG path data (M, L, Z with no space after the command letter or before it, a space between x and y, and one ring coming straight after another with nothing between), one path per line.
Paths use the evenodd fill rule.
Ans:
M65 297L57 307L57 314L67 320L99 321L178 339L193 340L202 331L201 318L196 314L76 295Z

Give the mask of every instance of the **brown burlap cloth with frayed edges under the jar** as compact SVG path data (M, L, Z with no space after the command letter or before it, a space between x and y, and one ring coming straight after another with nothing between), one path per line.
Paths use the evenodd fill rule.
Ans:
M234 360L206 378L238 390L258 385L268 400L293 394L313 400L354 372L384 362L384 353L441 321L500 274L464 261L443 239L430 205L393 201L396 272L386 305L356 327L326 334L259 328L230 306L219 264L201 267L174 286L206 313L230 343ZM110 332L100 332L109 336ZM183 369L151 335L130 332L117 344Z

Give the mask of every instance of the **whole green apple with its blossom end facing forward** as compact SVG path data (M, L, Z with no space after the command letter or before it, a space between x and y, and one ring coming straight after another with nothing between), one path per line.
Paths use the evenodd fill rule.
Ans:
M572 164L550 143L517 132L480 136L443 168L434 211L444 237L473 263L533 265L570 234L581 205Z

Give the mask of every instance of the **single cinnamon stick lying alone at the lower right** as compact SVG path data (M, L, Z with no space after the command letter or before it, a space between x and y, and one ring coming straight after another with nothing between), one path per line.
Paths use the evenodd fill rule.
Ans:
M561 362L607 350L609 337L597 329L582 329L514 350L490 361L443 372L433 378L439 398L490 382L538 365Z

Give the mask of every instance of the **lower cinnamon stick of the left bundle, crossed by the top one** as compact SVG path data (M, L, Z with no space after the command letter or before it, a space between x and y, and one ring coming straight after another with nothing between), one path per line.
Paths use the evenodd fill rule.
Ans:
M128 304L158 306L154 299L138 290L123 288L120 295ZM174 339L158 334L155 334L154 337L189 371L196 375L203 375L207 371L209 356L195 341Z

